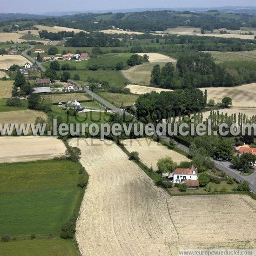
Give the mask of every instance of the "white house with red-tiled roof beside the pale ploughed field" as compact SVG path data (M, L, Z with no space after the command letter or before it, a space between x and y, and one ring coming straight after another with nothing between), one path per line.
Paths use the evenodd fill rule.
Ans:
M189 168L177 168L173 173L163 173L162 176L173 183L186 183L188 188L197 188L199 186L197 169L194 165Z

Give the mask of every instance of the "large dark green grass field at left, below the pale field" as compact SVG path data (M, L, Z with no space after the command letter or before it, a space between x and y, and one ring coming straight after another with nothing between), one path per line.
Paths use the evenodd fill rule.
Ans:
M79 168L69 160L0 164L0 236L58 235L83 196Z

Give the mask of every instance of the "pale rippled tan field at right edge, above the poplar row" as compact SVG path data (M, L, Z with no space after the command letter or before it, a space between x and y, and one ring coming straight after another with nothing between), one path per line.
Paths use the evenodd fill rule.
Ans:
M221 102L222 98L232 98L233 107L256 107L256 83L244 84L236 87L208 87L199 88L202 92L207 89L208 100Z

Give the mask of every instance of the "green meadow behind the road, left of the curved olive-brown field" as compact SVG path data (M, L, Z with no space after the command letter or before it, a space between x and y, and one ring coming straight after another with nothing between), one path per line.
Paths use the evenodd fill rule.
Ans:
M99 82L108 81L109 85L115 88L124 88L125 82L128 83L128 80L121 74L121 71L117 70L74 70L69 71L69 73L71 77L73 77L74 74L79 74L81 81L88 81L88 78L94 78Z

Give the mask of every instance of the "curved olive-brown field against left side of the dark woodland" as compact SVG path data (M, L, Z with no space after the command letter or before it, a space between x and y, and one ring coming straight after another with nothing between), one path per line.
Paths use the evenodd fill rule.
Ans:
M150 75L153 67L158 64L163 67L165 63L143 63L130 67L126 70L122 70L122 74L133 84L149 85Z

